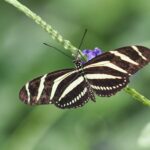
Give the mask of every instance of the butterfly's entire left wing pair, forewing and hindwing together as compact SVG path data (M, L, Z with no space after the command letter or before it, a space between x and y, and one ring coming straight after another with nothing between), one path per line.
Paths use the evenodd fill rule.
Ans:
M40 76L21 89L19 97L26 104L55 104L76 108L88 101L85 81L74 69L64 69Z

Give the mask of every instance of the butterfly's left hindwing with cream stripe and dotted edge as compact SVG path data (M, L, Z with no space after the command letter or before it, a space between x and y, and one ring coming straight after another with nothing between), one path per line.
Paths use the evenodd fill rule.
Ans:
M83 106L89 100L88 89L85 84L83 76L77 75L66 83L66 88L64 88L61 96L55 101L55 105L60 108Z

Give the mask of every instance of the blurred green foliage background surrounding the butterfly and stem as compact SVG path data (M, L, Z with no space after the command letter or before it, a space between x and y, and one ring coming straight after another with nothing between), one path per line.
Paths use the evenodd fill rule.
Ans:
M75 46L87 28L82 49L107 51L133 44L150 47L148 0L21 2ZM73 67L67 57L43 42L64 50L22 12L0 1L0 150L150 149L150 144L138 142L150 122L150 108L123 90L73 110L23 104L18 92L28 80ZM131 78L130 86L150 98L150 65ZM150 131L148 134L150 137Z

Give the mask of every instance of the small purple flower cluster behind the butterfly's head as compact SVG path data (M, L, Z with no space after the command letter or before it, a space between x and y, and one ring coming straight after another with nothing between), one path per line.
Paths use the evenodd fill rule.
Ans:
M102 50L96 47L94 50L85 49L82 51L82 53L83 53L83 55L87 56L87 60L89 61L89 60L93 59L94 57L101 55Z

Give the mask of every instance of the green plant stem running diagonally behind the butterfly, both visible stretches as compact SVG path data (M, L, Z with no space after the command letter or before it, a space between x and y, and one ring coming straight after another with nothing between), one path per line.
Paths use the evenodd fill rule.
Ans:
M17 0L5 0L10 3L23 13L25 13L29 18L31 18L34 22L40 25L47 33L51 35L51 37L60 43L65 49L71 51L71 53L75 56L78 52L78 48L73 46L70 41L65 40L56 30L54 30L49 24L47 24L41 17L32 12L29 8L18 2ZM82 55L81 51L79 51ZM124 91L134 97L136 100L142 102L143 104L150 106L150 100L145 98L143 95L138 93L135 89L126 87Z

